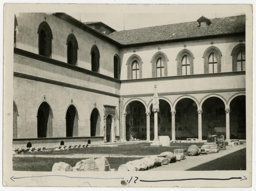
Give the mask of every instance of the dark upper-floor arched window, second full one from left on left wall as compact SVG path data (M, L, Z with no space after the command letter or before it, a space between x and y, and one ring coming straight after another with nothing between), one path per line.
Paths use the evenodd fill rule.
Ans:
M78 44L74 34L70 34L67 37L67 63L74 66L77 65L77 49Z

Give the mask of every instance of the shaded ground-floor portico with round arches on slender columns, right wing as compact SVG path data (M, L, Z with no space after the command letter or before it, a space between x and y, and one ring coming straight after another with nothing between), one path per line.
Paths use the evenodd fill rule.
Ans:
M226 140L245 139L244 92L159 97L157 130L152 102L152 97L124 100L123 128L127 132L134 117L137 125L140 124L134 138L153 141L157 132L157 136L169 136L172 141L197 138L200 142L214 134L224 134ZM134 106L137 115L132 112ZM131 139L126 136L126 140Z

